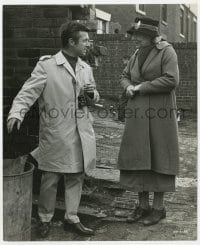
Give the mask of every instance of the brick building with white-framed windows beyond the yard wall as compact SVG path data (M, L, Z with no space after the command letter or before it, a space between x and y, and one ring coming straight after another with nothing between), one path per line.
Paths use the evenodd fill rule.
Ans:
M197 17L186 4L96 5L111 14L111 22L121 25L125 33L136 17L147 16L160 21L160 33L169 42L196 42ZM110 29L110 33L114 33Z

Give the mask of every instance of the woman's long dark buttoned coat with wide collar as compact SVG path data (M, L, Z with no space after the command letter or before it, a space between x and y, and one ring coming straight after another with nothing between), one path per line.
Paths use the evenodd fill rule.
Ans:
M160 41L139 71L137 52L120 79L124 89L130 84L141 84L141 87L127 103L118 168L176 175L179 164L175 97L179 83L177 55L168 42Z

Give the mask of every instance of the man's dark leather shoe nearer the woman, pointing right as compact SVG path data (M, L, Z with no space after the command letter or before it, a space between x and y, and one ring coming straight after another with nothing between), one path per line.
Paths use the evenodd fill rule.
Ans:
M67 221L64 221L64 230L65 231L74 231L74 232L78 233L79 235L84 235L84 236L94 235L94 230L85 227L81 222L70 224Z

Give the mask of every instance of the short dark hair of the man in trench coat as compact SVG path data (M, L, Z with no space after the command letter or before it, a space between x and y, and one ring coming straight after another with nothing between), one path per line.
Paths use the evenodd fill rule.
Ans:
M85 25L75 21L62 24L60 27L62 46L66 47L68 45L69 38L72 38L77 43L79 40L79 31L89 32L90 30Z

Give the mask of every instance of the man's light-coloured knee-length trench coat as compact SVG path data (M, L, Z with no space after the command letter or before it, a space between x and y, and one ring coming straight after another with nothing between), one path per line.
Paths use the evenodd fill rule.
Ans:
M38 99L39 146L31 154L39 169L73 173L79 172L80 164L84 164L87 173L95 167L93 118L87 106L78 109L78 95L87 83L95 84L91 67L78 58L74 72L60 51L40 58L15 97L8 119L15 117L21 121ZM98 98L95 89L94 100Z

